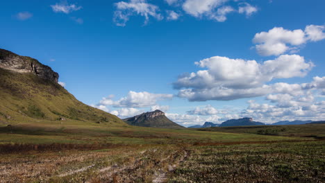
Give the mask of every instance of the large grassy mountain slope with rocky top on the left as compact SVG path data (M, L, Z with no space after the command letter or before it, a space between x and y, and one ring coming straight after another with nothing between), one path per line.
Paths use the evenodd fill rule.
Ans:
M0 49L0 124L67 120L126 125L78 101L58 78L38 60Z

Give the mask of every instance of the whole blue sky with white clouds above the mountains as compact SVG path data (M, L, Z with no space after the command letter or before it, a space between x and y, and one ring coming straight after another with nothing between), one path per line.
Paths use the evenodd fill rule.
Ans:
M49 65L78 100L121 118L160 109L186 126L324 120L324 7L12 0L0 6L0 47Z

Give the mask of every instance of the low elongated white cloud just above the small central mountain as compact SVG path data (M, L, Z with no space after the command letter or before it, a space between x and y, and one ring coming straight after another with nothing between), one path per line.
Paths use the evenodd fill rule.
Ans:
M128 95L113 101L114 96L108 96L100 101L100 105L113 105L114 107L151 107L157 101L170 100L172 94L151 94L149 92L128 92Z

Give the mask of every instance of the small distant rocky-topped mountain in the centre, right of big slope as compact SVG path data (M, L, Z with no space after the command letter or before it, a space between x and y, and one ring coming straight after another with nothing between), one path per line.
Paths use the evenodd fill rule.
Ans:
M138 116L124 119L129 125L153 127L153 128L183 128L183 126L170 121L165 113L160 110L144 112Z

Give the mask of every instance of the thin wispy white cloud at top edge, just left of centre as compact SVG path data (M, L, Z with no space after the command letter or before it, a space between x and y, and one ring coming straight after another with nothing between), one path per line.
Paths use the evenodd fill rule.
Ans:
M158 6L147 3L146 0L130 0L129 2L120 1L115 3L117 10L114 14L114 21L117 26L126 26L130 16L140 15L145 18L144 24L147 24L149 17L154 17L158 20L163 19L159 13Z

